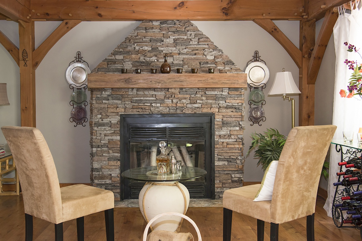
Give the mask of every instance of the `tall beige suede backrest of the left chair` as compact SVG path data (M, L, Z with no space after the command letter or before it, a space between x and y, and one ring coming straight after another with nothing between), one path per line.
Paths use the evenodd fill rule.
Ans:
M1 127L18 171L26 214L63 222L62 197L53 157L42 133L33 127Z

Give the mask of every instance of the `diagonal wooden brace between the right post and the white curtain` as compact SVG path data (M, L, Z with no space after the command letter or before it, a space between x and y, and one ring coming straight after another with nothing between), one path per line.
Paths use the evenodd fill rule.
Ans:
M322 27L319 31L316 44L313 48L311 60L309 62L307 84L315 84L316 82L324 52L333 33L333 26L336 23L337 18L338 13L334 13L333 9L329 9L325 13Z

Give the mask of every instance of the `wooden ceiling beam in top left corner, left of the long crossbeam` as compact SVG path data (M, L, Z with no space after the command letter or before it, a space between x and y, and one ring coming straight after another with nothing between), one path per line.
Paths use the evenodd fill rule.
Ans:
M1 0L0 13L15 22L30 22L30 0Z

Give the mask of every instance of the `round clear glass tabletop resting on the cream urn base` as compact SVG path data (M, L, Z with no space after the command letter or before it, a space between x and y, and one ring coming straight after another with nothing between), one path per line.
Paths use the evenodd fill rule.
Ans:
M206 171L198 167L182 167L180 174L157 175L157 167L138 167L122 172L122 176L136 181L185 181L201 178Z

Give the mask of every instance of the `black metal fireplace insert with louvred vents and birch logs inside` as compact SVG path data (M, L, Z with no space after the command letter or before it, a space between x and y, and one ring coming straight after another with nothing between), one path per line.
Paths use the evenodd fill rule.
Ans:
M206 176L181 182L190 198L215 199L215 117L202 114L121 114L120 173L130 168L156 165L159 142L182 165L206 170ZM121 199L137 199L144 182L124 179Z

